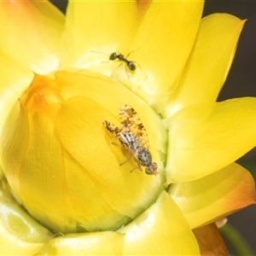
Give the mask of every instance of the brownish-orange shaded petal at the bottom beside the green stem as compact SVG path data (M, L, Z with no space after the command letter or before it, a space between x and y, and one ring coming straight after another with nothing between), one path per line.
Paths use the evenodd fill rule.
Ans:
M215 223L193 230L200 246L201 256L228 256L228 250Z

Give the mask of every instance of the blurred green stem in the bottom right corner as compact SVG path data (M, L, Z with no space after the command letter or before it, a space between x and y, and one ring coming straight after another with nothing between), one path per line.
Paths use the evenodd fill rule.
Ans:
M255 255L253 249L248 245L247 241L232 225L228 223L224 224L219 231L221 235L230 242L232 247L236 250L238 256Z

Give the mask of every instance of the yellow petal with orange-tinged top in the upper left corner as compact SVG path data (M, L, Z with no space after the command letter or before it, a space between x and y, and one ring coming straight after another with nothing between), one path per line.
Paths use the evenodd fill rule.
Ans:
M0 3L0 47L36 73L59 67L64 15L48 1Z

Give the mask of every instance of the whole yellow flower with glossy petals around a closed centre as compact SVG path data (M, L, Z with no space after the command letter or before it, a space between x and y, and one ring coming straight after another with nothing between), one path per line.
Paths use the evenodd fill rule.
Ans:
M256 144L256 100L216 102L244 21L202 9L0 3L1 254L225 250L214 222L255 203L234 161ZM155 176L102 124L124 104Z

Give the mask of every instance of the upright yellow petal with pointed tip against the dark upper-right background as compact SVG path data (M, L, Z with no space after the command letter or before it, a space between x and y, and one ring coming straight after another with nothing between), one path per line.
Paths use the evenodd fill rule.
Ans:
M201 20L195 46L166 115L201 102L215 102L233 61L245 20L214 14Z

